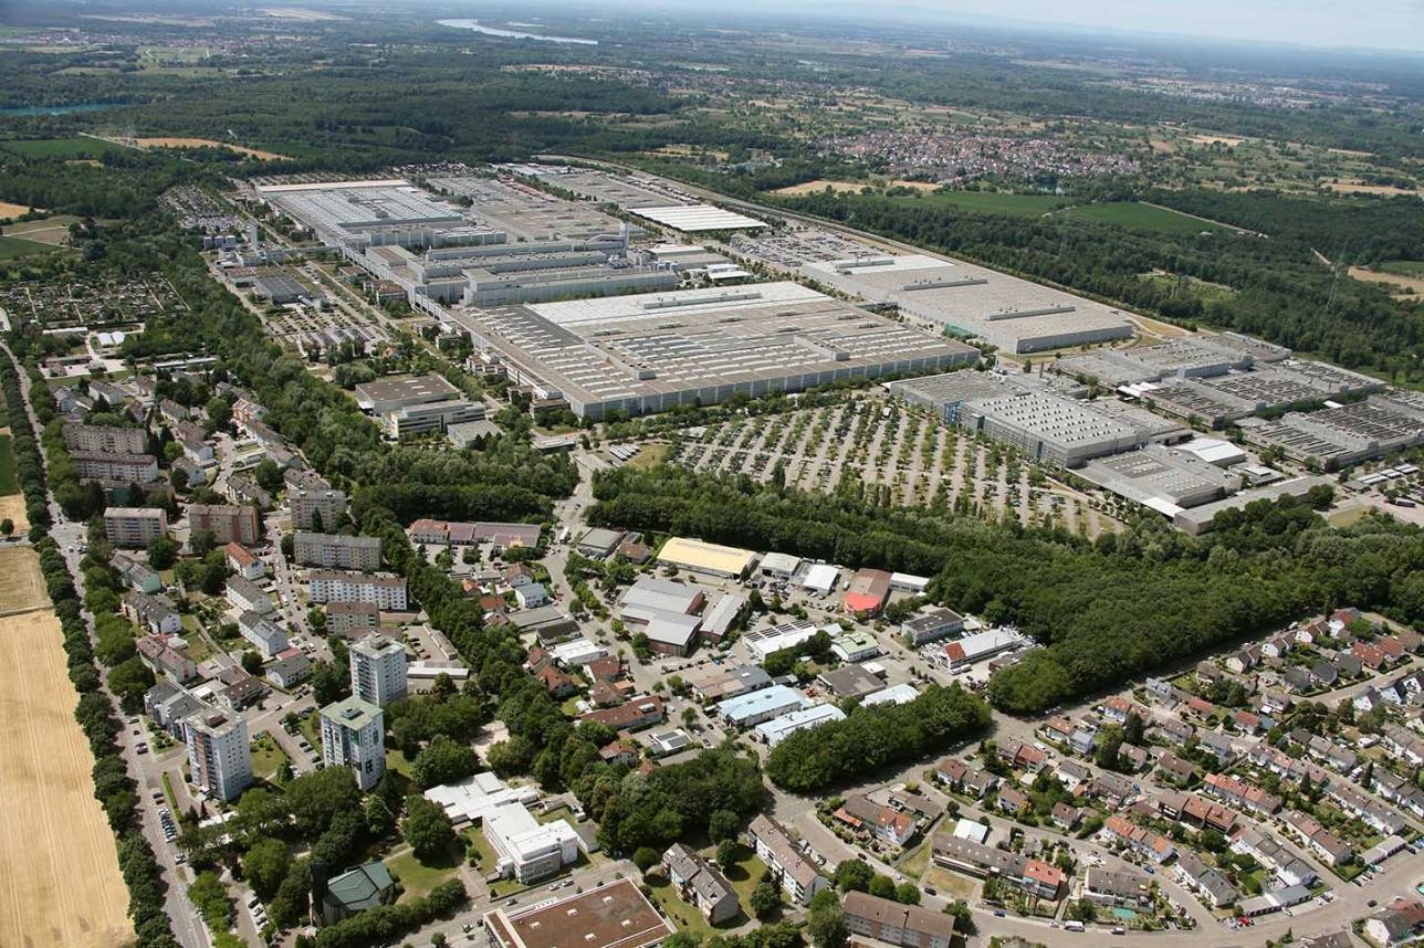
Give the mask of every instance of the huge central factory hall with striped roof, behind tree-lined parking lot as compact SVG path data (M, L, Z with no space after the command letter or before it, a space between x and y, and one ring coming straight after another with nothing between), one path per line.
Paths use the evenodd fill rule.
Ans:
M978 350L799 283L449 310L476 349L580 417L947 370Z

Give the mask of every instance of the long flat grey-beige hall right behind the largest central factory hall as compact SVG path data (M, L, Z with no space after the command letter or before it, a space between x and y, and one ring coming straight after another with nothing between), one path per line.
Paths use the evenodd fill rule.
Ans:
M809 263L802 272L1015 354L1132 339L1121 310L963 260L923 253Z

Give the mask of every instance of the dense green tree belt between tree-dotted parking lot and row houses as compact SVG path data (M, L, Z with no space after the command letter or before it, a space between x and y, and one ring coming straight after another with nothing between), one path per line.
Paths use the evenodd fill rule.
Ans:
M1330 530L1289 500L1223 514L1202 538L1142 520L1088 542L678 468L602 473L595 497L598 524L934 576L937 601L1047 646L991 682L993 703L1015 713L1331 605L1424 619L1424 531L1387 518Z

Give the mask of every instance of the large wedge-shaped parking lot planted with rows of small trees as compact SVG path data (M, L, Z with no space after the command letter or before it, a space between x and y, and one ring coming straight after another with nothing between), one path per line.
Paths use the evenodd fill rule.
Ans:
M1012 515L1089 537L1116 528L1105 501L1049 480L1005 446L874 399L688 428L674 437L668 461L762 483L785 477L813 491L880 491L891 504Z

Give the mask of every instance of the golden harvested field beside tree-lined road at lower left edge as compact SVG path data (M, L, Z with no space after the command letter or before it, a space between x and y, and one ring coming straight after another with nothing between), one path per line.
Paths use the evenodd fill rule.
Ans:
M10 552L10 551L7 551ZM38 559L6 557L40 582ZM74 720L60 622L50 609L0 618L0 945L108 948L132 938L114 834L94 800L94 756Z

